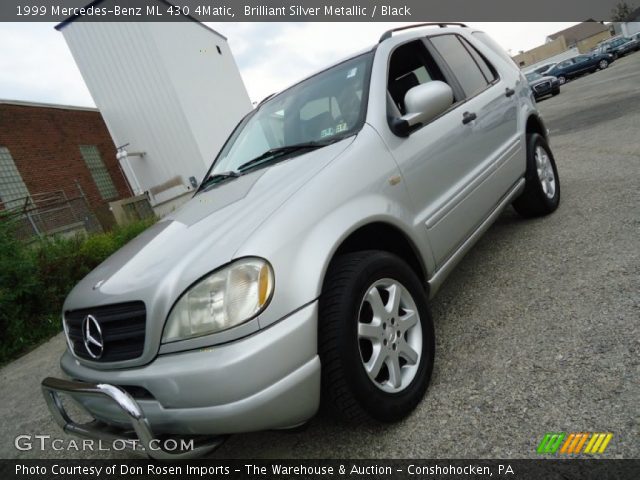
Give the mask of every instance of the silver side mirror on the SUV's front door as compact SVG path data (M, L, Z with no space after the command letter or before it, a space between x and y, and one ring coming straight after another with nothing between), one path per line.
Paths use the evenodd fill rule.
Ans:
M394 133L406 137L416 127L430 122L445 112L453 104L453 90L444 82L432 82L416 85L404 96L407 113L394 119Z

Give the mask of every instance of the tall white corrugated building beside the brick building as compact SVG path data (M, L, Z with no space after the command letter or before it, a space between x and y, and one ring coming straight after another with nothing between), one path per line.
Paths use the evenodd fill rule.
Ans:
M76 21L62 33L116 146L145 152L123 164L135 193L154 206L188 198L189 177L202 179L251 109L225 38L196 22Z

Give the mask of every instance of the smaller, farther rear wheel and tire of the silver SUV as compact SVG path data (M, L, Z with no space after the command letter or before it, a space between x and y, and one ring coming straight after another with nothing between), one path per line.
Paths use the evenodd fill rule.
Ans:
M542 135L527 135L527 170L524 192L513 202L523 217L553 213L560 204L560 177L555 159Z

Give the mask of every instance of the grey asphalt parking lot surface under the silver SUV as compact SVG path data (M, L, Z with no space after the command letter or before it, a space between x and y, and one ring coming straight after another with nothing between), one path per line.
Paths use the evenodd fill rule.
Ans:
M507 210L431 303L431 387L394 425L320 413L296 432L231 437L214 458L530 458L546 432L612 432L605 458L640 458L640 53L539 103L562 199L547 218ZM0 457L20 434L67 438L40 394L58 336L0 371Z

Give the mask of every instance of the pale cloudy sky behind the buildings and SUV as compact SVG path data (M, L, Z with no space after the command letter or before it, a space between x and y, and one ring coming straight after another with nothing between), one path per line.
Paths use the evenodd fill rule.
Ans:
M572 22L468 23L512 55ZM252 101L286 88L401 23L210 23L229 46ZM62 34L52 23L0 23L0 99L95 106Z

